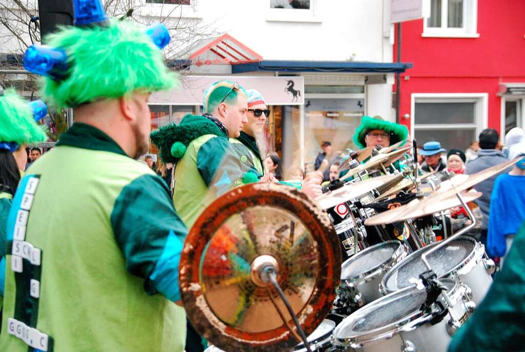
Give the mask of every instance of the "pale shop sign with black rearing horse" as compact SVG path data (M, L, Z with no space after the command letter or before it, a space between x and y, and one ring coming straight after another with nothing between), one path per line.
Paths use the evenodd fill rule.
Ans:
M256 89L267 105L303 105L304 79L299 76L182 76L180 86L171 91L156 92L148 101L152 105L201 105L204 92L214 82L229 80L244 89Z

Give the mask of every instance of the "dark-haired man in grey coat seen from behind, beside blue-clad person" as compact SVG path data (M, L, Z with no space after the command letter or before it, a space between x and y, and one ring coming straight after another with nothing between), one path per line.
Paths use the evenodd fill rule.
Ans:
M478 150L478 157L467 163L465 173L470 175L508 161L503 152L499 150L499 147L500 143L498 132L492 128L482 130L479 134L480 149ZM483 193L483 195L474 202L479 206L481 212L483 213L480 241L484 245L487 244L487 227L489 224L490 195L492 194L492 185L499 174L507 173L511 169L512 168L505 169L476 185L476 190Z

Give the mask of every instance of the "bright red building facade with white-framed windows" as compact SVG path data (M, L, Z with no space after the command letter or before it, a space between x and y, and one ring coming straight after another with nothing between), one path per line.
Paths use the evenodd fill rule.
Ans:
M490 127L501 137L525 116L525 1L430 0L402 24L400 123L418 144L465 149ZM397 52L397 43L394 53Z

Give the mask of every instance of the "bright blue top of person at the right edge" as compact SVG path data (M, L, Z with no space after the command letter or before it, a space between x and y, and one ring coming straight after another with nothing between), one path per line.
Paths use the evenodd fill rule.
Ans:
M514 235L525 221L525 176L499 175L490 197L487 251L493 257L507 252L505 236Z

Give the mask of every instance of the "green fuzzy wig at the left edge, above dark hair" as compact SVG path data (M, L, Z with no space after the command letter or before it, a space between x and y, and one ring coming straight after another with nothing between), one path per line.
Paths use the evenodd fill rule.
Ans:
M38 125L33 112L13 89L0 96L0 142L17 144L43 142L45 127Z

